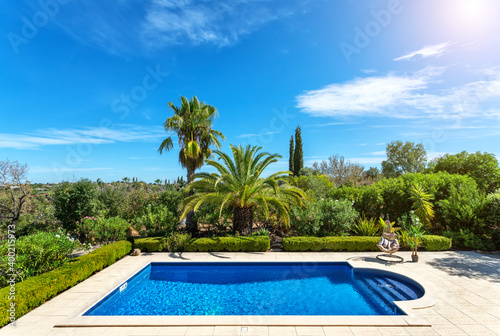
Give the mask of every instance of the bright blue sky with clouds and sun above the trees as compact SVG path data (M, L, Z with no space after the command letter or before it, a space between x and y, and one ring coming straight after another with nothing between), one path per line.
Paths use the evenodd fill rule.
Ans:
M306 165L379 166L392 140L429 158L500 155L495 0L7 0L0 158L34 182L185 175L157 153L169 101L214 105L229 144ZM495 15L496 14L496 15Z

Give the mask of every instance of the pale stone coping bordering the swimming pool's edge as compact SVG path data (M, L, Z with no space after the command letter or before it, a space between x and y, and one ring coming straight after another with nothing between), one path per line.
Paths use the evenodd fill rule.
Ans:
M159 254L160 253L155 253ZM434 306L439 297L433 290L430 283L421 279L415 274L407 274L404 270L395 272L382 268L384 264L378 264L375 267L366 266L358 261L353 260L332 260L332 261L262 261L266 263L283 263L283 262L345 262L353 269L357 270L377 270L403 276L417 282L423 289L424 295L416 300L409 301L394 301L394 304L407 315L213 315L213 316L83 316L97 303L101 302L105 297L110 295L126 280L130 279L135 274L138 274L142 269L153 262L175 262L175 263L213 263L214 261L160 261L147 258L139 266L134 266L133 270L126 272L125 275L116 281L117 284L108 285L111 287L105 291L105 294L100 294L91 304L86 304L82 309L78 309L77 313L73 313L65 318L60 323L54 325L55 328L74 328L74 327L162 327L162 326L337 326L337 327L352 327L352 326L377 326L377 327L430 327L431 324L425 319L415 314L415 310L424 309ZM221 260L224 262L238 263L259 263L259 261L235 261ZM387 264L385 264L387 265ZM112 319L112 321L111 321Z

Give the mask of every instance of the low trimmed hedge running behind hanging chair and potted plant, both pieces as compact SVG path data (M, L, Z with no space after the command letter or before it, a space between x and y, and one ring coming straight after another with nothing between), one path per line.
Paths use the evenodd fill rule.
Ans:
M286 237L285 251L378 251L379 237ZM441 236L424 236L423 246L427 251L443 251L451 247L451 239Z

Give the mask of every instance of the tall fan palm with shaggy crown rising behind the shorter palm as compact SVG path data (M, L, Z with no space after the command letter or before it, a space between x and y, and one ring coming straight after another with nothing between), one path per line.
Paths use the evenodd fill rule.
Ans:
M166 132L173 132L179 140L179 162L187 169L187 181L193 180L196 169L203 166L205 159L212 154L210 146L221 147L220 140L225 140L224 134L212 129L212 124L217 117L217 109L211 105L200 102L196 96L188 101L181 97L181 106L174 103L168 105L174 115L167 118L163 127ZM169 151L173 148L172 135L162 141L158 152ZM186 218L186 227L196 233L197 225L193 222L193 213Z

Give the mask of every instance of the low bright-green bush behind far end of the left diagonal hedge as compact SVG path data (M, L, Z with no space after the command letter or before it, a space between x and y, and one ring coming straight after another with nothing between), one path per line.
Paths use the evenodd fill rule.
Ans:
M126 238L130 227L126 220L119 217L85 217L76 223L76 230L82 242L114 242Z

